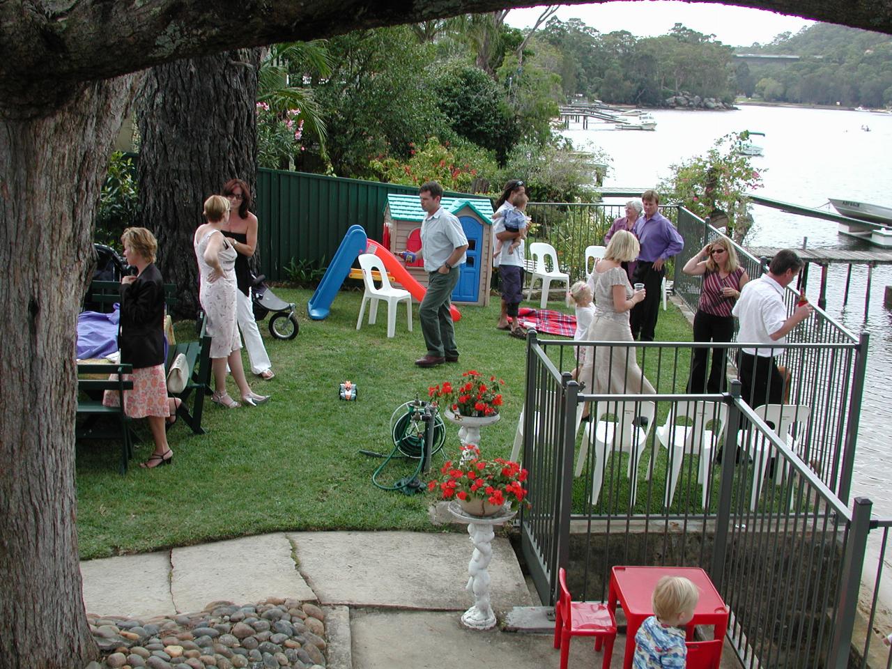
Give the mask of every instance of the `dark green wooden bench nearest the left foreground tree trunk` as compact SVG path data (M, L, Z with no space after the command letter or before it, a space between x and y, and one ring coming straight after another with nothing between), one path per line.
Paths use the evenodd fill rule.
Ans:
M132 374L133 366L107 362L78 363L78 411L75 418L76 439L120 439L121 474L127 473L128 460L133 457L135 435L130 427L131 419L124 412L124 391L133 390L133 381L124 381L123 375ZM80 378L81 375L100 375L103 378ZM117 374L116 379L109 375ZM118 392L119 406L103 405L105 391ZM112 432L96 428L100 418L109 417L119 425ZM81 425L77 421L81 420Z

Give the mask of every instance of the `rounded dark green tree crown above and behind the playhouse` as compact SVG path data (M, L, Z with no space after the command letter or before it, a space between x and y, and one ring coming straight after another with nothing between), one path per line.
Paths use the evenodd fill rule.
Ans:
M434 91L456 134L494 151L504 162L516 144L517 123L499 85L483 70L465 65L442 72Z

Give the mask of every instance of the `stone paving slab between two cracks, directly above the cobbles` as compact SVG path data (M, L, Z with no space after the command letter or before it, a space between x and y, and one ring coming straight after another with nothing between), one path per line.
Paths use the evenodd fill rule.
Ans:
M179 613L201 611L218 599L236 604L268 597L317 599L297 571L283 533L173 549L170 563L170 592Z

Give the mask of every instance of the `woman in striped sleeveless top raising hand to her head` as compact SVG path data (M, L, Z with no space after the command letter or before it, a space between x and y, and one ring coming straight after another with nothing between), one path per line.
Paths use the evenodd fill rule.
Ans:
M700 303L694 316L695 342L730 342L734 335L731 308L740 290L749 281L740 267L737 252L728 237L719 237L703 249L681 269L691 277L703 277ZM722 392L725 387L726 349L713 349L713 363L709 367L709 349L694 349L690 362L688 392Z

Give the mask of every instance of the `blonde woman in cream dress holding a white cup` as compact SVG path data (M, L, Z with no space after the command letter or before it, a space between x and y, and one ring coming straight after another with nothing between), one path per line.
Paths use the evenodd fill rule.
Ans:
M595 297L595 317L585 334L589 342L632 342L629 311L644 300L644 290L633 291L621 263L638 257L638 240L626 230L618 230L604 258L596 263L589 277ZM635 349L627 347L581 346L579 380L586 393L653 393L654 387L644 377Z

